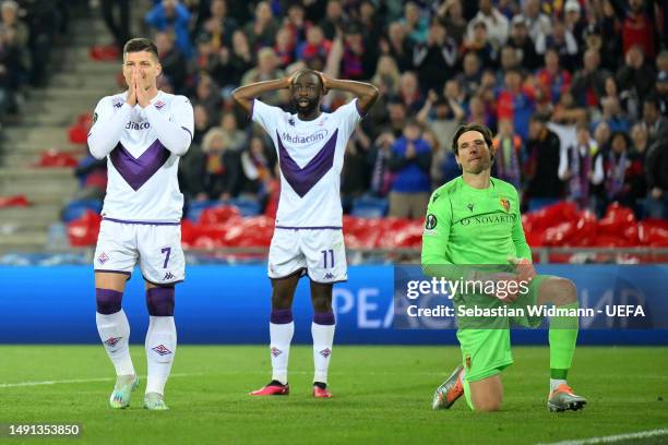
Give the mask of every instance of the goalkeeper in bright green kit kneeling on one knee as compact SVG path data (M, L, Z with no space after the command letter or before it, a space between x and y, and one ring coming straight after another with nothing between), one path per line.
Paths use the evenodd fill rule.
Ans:
M422 268L427 275L442 275L444 269L464 268L467 279L525 280L528 292L455 298L455 305L475 304L494 308L509 304L553 304L562 313L578 308L575 285L564 278L536 275L530 265L530 250L524 238L517 191L508 182L490 177L493 161L492 136L478 124L461 127L453 139L453 152L462 176L433 192L429 200L422 236ZM455 266L453 266L455 265ZM480 272L480 266L505 265L505 273ZM493 266L497 267L497 266ZM474 272L474 269L476 272ZM500 409L503 397L501 372L513 363L510 326L536 327L537 316L494 317L482 323L460 317L457 339L462 365L434 393L433 408L450 408L462 395L476 411ZM550 320L550 411L578 410L586 400L573 393L566 375L577 339L577 316Z

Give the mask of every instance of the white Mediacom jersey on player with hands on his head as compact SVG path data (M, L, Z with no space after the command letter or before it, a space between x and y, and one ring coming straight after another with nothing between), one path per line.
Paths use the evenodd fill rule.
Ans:
M271 136L278 154L276 227L341 228L341 170L346 144L361 120L357 99L312 121L254 99L252 120Z

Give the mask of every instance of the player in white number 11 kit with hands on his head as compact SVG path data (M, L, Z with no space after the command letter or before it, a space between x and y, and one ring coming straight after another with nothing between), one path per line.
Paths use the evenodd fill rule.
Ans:
M264 93L289 89L297 113L258 99ZM322 112L329 89L357 96L334 112ZM287 395L288 356L295 332L293 298L301 276L308 275L313 304L313 396L327 398L327 369L334 339L332 286L347 279L342 232L341 170L348 139L378 99L371 84L342 81L302 70L290 77L237 88L232 97L274 142L281 168L281 199L269 253L272 280L270 384L251 395Z

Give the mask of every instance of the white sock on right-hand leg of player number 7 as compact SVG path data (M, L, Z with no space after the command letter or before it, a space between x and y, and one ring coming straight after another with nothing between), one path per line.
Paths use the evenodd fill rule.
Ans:
M146 393L164 394L176 353L176 325L174 316L151 316L146 333L146 361L148 376Z

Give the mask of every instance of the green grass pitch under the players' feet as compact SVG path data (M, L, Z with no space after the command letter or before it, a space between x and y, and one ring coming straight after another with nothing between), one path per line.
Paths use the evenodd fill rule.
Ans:
M129 409L108 408L114 371L102 346L0 346L0 422L82 425L79 438L31 443L160 445L535 444L668 426L667 348L577 348L569 383L589 404L564 413L546 408L546 347L513 348L496 413L470 412L463 398L431 410L433 389L460 357L454 347L335 347L330 400L311 397L311 353L293 347L288 397L252 398L247 393L269 382L266 347L179 346L166 392L171 410L150 412L141 408L145 380ZM132 357L143 375L143 348ZM96 381L61 382L72 380ZM41 381L55 383L13 386Z

